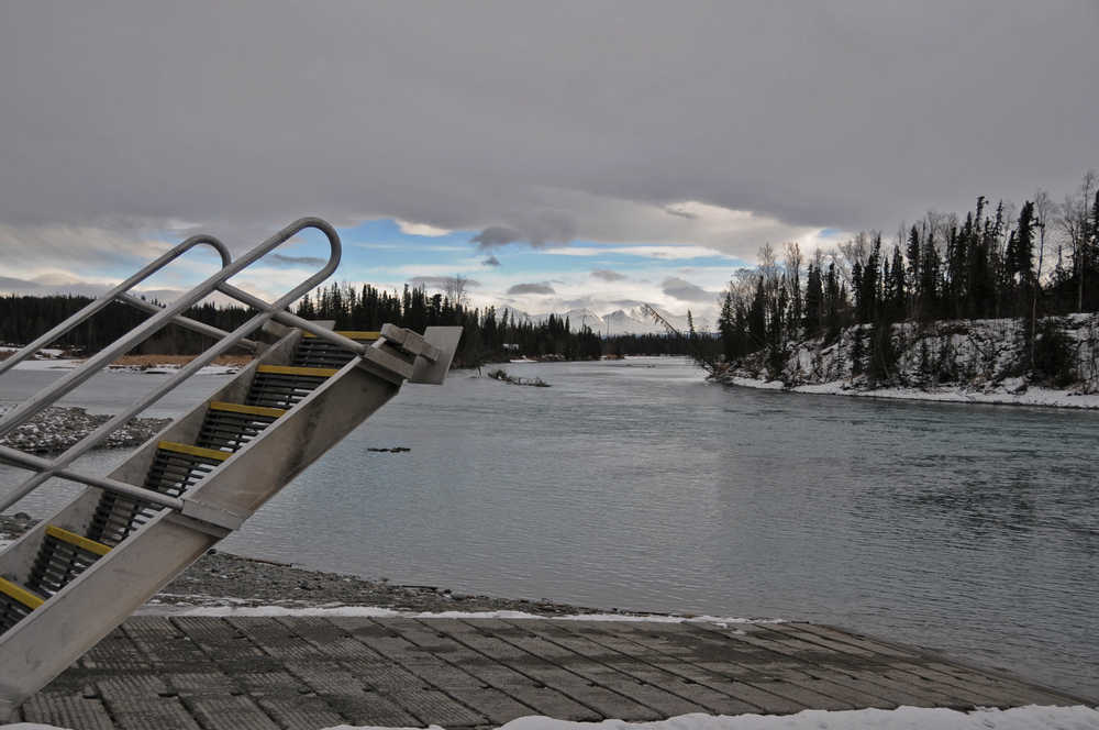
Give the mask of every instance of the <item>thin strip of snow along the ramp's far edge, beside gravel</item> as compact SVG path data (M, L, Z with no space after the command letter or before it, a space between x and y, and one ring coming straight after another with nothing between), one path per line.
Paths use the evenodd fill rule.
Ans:
M201 597L196 597L201 598ZM233 600L233 599L229 599ZM569 616L539 616L525 611L399 611L378 606L180 606L146 604L138 616L345 616L357 618L406 619L552 619L554 621L651 621L655 623L684 623L703 621L721 627L735 623L785 623L786 619L745 619L717 616L664 616L629 613L575 613Z

